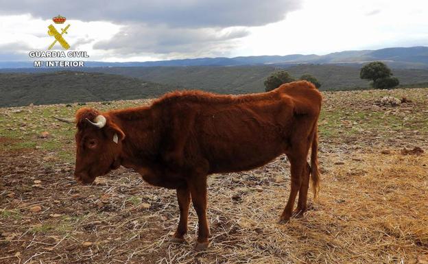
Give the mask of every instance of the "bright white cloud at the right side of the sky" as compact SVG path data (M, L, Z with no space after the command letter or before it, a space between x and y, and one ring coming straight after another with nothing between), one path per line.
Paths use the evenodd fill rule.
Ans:
M373 10L377 14L367 16ZM428 45L428 2L307 0L278 23L253 27L233 54L285 55Z

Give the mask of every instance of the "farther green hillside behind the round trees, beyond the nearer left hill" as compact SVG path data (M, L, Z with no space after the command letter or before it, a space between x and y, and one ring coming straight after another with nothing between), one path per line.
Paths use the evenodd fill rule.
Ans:
M103 67L86 71L114 73L139 77L150 82L178 85L217 93L259 93L264 90L265 78L281 65L237 67ZM322 91L368 88L368 82L359 78L359 68L332 64L300 64L286 69L298 78L310 73L320 80ZM428 82L428 70L394 69L401 84Z

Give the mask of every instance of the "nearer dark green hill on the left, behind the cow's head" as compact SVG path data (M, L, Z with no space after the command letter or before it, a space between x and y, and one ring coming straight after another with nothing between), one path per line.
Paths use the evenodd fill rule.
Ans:
M177 88L104 73L0 73L0 107L149 98Z

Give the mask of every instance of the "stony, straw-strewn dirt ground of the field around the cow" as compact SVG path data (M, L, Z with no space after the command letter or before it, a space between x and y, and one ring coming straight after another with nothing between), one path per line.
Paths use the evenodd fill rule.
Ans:
M0 263L428 263L428 88L324 93L320 198L288 224L285 156L211 176L205 252L193 208L187 243L168 241L175 191L123 168L73 180L74 130L50 116L80 107L0 108Z

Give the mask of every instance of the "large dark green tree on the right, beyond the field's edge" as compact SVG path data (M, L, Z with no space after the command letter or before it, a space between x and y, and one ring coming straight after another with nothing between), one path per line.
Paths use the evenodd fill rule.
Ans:
M370 62L359 71L359 77L371 80L373 88L389 89L399 85L399 79L391 76L391 69L383 62Z

